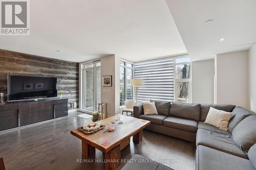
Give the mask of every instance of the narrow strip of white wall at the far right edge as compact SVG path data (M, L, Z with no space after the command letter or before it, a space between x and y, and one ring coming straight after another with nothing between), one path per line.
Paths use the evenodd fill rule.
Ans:
M256 44L253 45L248 54L249 65L249 106L256 113Z

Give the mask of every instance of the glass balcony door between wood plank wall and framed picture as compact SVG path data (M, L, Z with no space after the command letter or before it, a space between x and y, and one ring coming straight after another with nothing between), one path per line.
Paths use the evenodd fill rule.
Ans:
M100 94L100 62L83 64L83 109L97 110Z

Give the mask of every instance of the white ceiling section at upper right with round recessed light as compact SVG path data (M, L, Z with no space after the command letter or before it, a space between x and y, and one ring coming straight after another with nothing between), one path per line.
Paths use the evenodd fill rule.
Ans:
M256 42L255 0L166 0L189 56L195 60L248 50ZM212 23L205 21L213 19ZM223 41L220 41L224 38ZM243 45L248 44L248 45Z

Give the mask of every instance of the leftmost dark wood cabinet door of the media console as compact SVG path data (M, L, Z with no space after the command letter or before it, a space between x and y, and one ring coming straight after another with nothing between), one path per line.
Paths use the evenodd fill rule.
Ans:
M0 111L0 131L18 127L18 109Z

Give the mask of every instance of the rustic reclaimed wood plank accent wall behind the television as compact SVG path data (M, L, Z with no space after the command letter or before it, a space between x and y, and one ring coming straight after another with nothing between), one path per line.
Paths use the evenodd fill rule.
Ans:
M53 76L58 91L70 102L79 99L79 64L76 62L34 56L0 49L0 92L8 94L8 75Z

